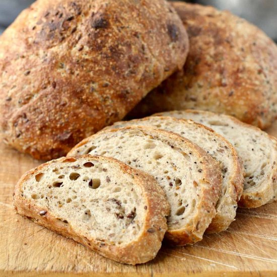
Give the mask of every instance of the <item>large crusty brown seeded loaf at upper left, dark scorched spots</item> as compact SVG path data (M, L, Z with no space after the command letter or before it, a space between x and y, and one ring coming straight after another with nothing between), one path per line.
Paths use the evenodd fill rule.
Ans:
M188 38L164 0L38 0L0 45L4 140L48 160L181 68Z

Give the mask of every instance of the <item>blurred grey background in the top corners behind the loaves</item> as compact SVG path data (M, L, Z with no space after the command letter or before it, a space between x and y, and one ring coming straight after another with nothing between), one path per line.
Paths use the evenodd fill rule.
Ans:
M34 1L0 0L0 34L32 2ZM229 10L235 15L254 23L272 39L277 40L277 0L192 0L186 2L211 5L220 10Z

